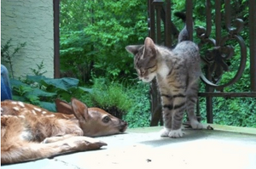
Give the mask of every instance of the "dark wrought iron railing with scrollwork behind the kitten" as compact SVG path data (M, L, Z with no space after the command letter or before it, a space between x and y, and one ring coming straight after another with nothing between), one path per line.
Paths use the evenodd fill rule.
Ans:
M177 37L178 31L172 23L172 1L171 0L148 0L148 37L151 37L154 42L164 42L166 47L171 48L173 39ZM212 4L213 3L213 4ZM222 5L224 3L224 10ZM230 0L206 0L205 15L206 27L199 26L196 29L193 27L193 1L186 0L186 26L189 31L189 40L193 41L193 32L195 31L199 39L199 47L204 48L210 45L201 54L201 59L205 63L201 81L206 84L204 92L199 93L199 97L206 97L207 104L207 122L213 122L212 113L212 98L213 97L252 97L256 98L256 1L248 0L249 14L249 44L247 45L241 37L240 32L243 29L243 20L230 20L231 5ZM212 35L212 10L215 11L214 27L215 36ZM222 18L224 16L224 18ZM223 24L224 19L224 24ZM224 25L224 26L223 26ZM162 28L161 26L164 26ZM162 31L164 30L164 36ZM226 35L222 35L222 31L226 31ZM235 41L240 48L240 65L236 70L236 75L230 78L229 82L219 83L224 72L229 70L227 60L232 59L235 49L227 44L229 41ZM247 56L247 46L249 46L249 56ZM246 66L247 57L250 57L250 91L249 92L234 92L225 93L224 87L228 87L236 83L242 76ZM151 126L155 126L161 121L160 96L157 92L156 82L152 82L151 88ZM255 103L256 104L256 103ZM200 110L200 109L198 109Z

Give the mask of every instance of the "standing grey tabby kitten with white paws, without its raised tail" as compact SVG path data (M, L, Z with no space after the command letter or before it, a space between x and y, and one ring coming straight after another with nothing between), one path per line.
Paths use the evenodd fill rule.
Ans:
M140 80L151 82L156 77L161 96L164 129L162 137L183 137L183 113L187 110L191 127L201 129L195 116L198 80L201 75L199 48L194 42L180 40L174 49L155 45L149 37L144 45L130 45Z

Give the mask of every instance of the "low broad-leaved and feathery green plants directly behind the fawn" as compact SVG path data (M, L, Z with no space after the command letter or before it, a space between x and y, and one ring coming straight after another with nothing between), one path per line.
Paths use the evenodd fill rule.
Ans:
M89 107L99 107L124 119L129 127L148 127L150 122L148 84L138 82L125 87L108 79L94 79L91 88L80 87L74 78L51 79L26 76L23 81L11 79L13 99L55 110L55 99L70 101L75 97Z

